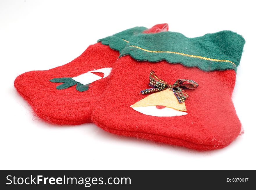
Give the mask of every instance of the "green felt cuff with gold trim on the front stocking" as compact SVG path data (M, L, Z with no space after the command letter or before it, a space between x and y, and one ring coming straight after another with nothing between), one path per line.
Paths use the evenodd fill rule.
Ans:
M139 61L166 60L204 71L237 70L244 38L232 31L188 38L178 32L159 32L134 36L120 52L120 57L131 55Z

